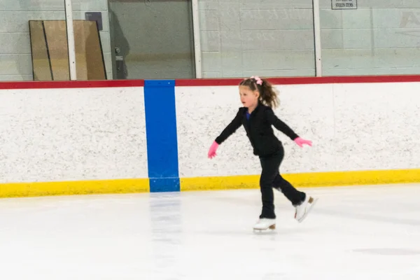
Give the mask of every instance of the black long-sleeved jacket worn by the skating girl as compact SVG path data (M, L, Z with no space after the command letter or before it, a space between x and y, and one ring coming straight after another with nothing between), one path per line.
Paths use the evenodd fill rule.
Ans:
M277 153L282 148L281 141L274 135L272 125L292 140L299 137L286 123L283 123L274 115L274 111L269 106L265 106L259 102L258 106L251 113L251 116L249 116L249 120L246 119L247 111L248 109L246 107L239 108L237 116L235 116L232 122L216 138L215 141L217 144L222 144L241 125L244 125L246 136L253 146L254 155L264 157Z

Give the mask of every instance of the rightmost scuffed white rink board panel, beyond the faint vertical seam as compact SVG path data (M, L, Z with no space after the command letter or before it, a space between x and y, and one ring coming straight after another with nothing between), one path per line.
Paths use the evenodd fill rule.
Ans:
M337 170L420 167L420 83L334 85Z

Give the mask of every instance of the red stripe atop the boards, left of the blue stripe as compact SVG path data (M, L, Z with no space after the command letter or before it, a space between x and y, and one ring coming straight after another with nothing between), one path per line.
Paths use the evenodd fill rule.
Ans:
M48 82L0 82L0 90L31 88L76 88L76 87L143 87L144 80L57 80Z

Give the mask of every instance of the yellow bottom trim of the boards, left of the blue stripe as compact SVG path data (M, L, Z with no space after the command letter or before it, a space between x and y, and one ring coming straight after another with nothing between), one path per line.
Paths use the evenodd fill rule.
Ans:
M0 197L148 193L149 179L116 179L35 183L1 183Z

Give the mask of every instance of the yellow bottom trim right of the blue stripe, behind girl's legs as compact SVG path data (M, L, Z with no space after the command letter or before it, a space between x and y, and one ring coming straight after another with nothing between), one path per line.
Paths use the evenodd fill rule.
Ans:
M420 169L282 174L295 187L420 183ZM181 191L259 188L259 175L181 178Z

